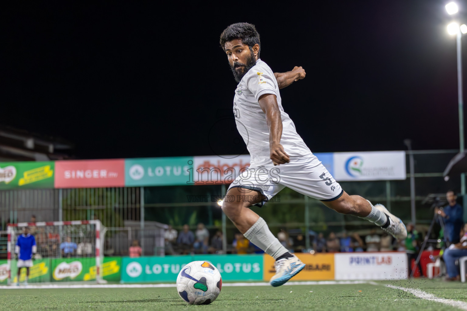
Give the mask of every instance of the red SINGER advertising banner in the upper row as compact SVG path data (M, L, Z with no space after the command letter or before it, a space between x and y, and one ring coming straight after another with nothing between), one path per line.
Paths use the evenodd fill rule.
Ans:
M55 161L55 187L125 187L125 160Z

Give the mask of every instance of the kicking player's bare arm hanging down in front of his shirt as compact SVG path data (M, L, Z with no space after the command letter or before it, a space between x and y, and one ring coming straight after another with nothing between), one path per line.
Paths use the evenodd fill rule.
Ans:
M277 105L276 95L264 94L259 98L258 103L262 111L266 114L266 122L269 128L270 158L272 162L274 165L289 163L290 157L285 153L280 143L282 136L282 119L281 111Z

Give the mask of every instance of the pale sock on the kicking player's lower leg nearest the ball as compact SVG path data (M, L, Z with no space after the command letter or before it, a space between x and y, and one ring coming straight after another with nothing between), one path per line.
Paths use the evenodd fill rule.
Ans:
M245 232L245 237L274 259L287 253L281 242L271 233L266 221L261 217Z

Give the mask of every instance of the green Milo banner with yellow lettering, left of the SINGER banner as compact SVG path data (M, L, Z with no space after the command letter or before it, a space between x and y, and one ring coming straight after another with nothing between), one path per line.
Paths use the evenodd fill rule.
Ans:
M1 162L0 190L54 187L55 162Z

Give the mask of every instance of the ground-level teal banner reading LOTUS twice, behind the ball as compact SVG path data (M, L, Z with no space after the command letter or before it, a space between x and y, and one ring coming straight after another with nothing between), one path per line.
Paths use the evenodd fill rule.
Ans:
M176 282L180 270L192 261L212 263L222 281L262 281L262 255L193 255L165 257L123 257L121 282Z

